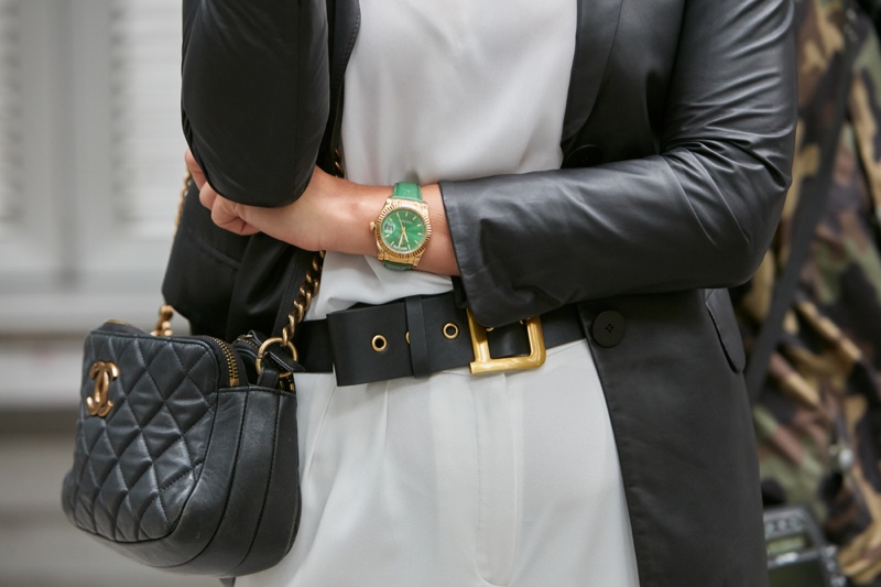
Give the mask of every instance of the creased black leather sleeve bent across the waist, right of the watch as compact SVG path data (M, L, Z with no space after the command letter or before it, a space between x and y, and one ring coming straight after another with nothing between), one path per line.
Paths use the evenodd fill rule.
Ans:
M640 25L653 34L650 19ZM442 182L478 320L499 326L570 302L748 280L791 181L792 29L790 0L685 1L656 153ZM634 74L606 76L598 101L614 104L609 93L628 86L609 78ZM607 135L627 132L624 115L640 113L609 117Z

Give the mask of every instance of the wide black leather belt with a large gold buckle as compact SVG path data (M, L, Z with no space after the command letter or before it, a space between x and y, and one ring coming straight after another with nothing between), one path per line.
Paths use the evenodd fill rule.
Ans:
M338 384L355 385L469 365L475 373L535 368L546 348L579 338L585 331L575 305L487 329L447 293L304 322L295 345L306 372L336 371Z

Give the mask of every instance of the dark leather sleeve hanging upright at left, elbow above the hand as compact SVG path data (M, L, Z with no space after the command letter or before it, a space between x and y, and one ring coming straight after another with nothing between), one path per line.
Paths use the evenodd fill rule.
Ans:
M328 115L324 0L184 0L186 141L222 196L283 206L306 188Z

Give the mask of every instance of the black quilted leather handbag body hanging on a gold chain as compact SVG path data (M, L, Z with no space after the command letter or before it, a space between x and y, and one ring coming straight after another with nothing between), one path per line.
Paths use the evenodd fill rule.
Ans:
M85 343L74 466L62 504L80 530L146 565L238 576L278 563L300 519L296 398L232 381L207 338L108 323ZM230 351L235 352L235 351ZM89 415L96 361L119 369Z

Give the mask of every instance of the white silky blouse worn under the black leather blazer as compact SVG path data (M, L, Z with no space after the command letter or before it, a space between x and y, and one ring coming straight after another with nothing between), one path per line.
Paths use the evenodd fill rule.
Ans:
M347 178L425 185L559 166L576 2L360 4L345 86ZM308 318L449 289L446 276L328 252Z

